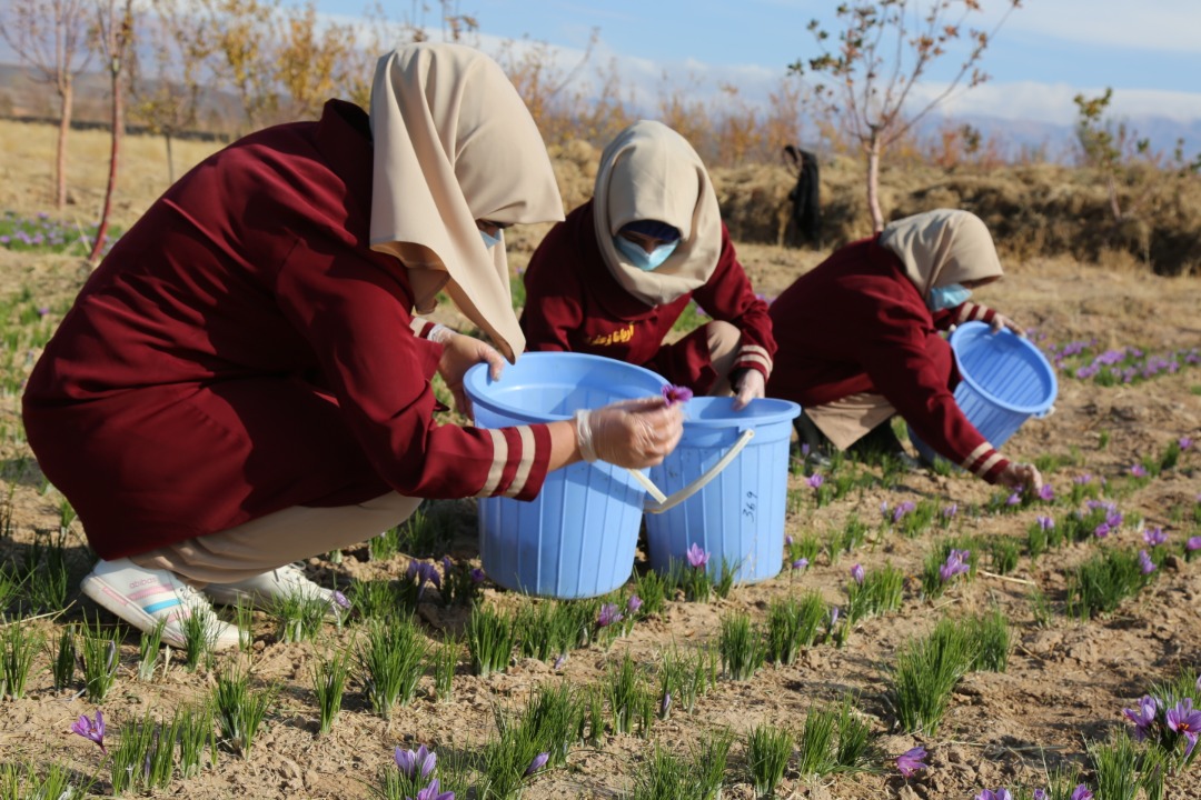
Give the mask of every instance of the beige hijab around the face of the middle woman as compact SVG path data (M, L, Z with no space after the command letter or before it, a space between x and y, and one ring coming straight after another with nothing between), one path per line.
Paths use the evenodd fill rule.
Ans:
M703 287L717 269L717 193L697 151L662 122L634 122L604 149L592 211L605 265L626 291L647 305L661 306ZM680 230L675 252L652 272L631 264L613 245L622 225L637 219Z

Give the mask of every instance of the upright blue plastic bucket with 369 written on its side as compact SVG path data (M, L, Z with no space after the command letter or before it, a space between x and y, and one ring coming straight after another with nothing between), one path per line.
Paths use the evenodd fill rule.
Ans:
M688 401L683 438L662 464L651 468L651 481L669 495L663 504L647 506L649 560L656 571L685 561L688 548L698 545L710 554L707 569L715 578L723 559L736 583L758 583L779 572L788 447L801 407L755 399L735 411L733 404L729 397ZM730 458L736 447L740 451Z

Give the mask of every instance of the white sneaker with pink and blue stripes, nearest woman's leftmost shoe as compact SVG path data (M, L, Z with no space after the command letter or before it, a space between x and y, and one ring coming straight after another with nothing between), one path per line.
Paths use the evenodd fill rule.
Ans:
M238 646L238 627L222 622L199 591L167 570L148 570L130 559L97 561L79 584L83 594L126 622L149 633L167 620L162 640L174 648L185 644L185 619L201 614L214 650Z

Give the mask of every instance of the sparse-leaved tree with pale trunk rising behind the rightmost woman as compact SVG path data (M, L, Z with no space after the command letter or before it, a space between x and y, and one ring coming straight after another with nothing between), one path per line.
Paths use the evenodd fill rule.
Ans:
M819 84L814 98L823 110L832 112L848 128L867 158L867 206L874 230L884 228L880 212L880 158L889 145L903 137L921 118L961 88L978 86L988 79L979 64L988 42L1021 0L1004 0L1005 13L991 32L968 29L968 53L945 89L915 113L906 114L914 86L930 65L948 54L952 43L964 37L969 14L980 13L979 0L931 0L922 12L918 0L871 0L843 4L837 8L837 52L830 52L830 34L818 20L808 28L821 54L797 60L789 71L824 74L831 85Z

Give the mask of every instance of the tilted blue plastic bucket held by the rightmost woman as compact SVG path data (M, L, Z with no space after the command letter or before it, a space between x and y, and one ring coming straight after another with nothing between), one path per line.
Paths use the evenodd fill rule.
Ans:
M976 431L999 449L1032 416L1046 416L1059 392L1054 368L1028 339L986 323L964 323L951 332L962 380L955 402ZM927 462L938 455L909 428Z

